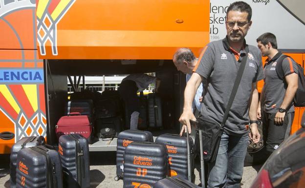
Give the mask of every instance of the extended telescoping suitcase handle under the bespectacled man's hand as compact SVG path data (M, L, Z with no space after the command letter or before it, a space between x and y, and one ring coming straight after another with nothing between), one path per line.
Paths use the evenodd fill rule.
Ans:
M193 121L190 120L190 124L194 125L196 127L198 127L198 122L197 121ZM204 160L203 160L203 149L202 149L202 130L200 128L198 128L199 130L199 146L200 146L200 171L201 171L201 188L205 188L205 174L204 174ZM189 135L188 133L188 128L186 128L186 134L187 137ZM188 146L189 146L189 139L187 139L188 142ZM189 163L190 159L188 157L188 163ZM190 164L188 164L189 168L190 168ZM190 178L189 178L190 181Z

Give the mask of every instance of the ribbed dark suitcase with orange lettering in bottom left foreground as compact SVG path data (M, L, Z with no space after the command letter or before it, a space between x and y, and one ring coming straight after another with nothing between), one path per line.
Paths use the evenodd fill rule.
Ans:
M59 153L44 146L18 152L17 188L63 188L63 173Z

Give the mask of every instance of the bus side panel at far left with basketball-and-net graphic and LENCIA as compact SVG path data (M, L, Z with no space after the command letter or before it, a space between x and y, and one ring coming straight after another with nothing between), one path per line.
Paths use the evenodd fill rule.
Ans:
M36 43L36 4L7 0L0 5L0 132L15 137L0 139L0 153L26 136L46 136L43 60Z

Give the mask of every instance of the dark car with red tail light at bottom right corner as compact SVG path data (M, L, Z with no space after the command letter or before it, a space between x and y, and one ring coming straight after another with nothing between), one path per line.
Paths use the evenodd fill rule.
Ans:
M301 125L272 153L250 188L305 188L305 113Z

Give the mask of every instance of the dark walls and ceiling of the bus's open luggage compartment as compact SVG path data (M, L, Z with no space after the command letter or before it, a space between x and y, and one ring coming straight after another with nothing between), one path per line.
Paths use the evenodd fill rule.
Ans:
M71 78L75 76L74 81L71 80L77 83L76 76L128 75L152 72L161 80L158 95L162 100L163 111L163 128L151 130L153 136L168 132L178 134L180 130L178 119L183 108L183 93L186 82L185 75L176 70L172 60L44 60L47 143L57 144L55 125L59 118L65 115L65 104L68 101L67 93L70 90L68 86L71 86L67 81L68 76ZM79 85L82 87L83 81Z

